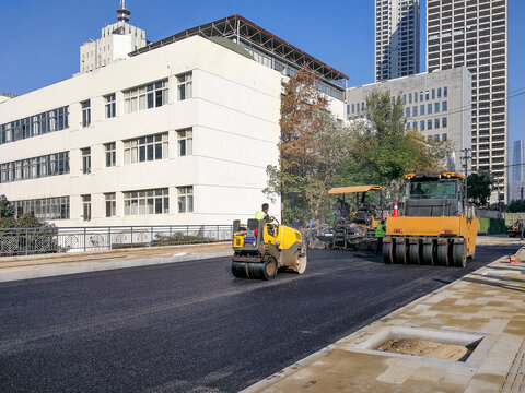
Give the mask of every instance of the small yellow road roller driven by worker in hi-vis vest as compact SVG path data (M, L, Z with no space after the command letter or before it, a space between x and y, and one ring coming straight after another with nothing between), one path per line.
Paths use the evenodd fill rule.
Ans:
M302 274L306 270L306 245L299 230L269 222L250 218L246 225L233 222L232 273L238 278L275 278L278 271L291 270Z

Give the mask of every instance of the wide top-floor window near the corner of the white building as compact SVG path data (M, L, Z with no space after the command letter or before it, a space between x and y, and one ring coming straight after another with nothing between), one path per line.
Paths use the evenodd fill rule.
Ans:
M124 92L126 114L156 108L167 104L167 80L149 83Z

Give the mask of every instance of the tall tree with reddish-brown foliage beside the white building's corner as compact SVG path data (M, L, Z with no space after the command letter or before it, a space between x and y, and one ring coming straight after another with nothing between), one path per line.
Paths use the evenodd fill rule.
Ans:
M329 112L318 82L304 66L283 83L279 166L268 166L265 192L281 195L287 222L329 211L328 189L349 154L349 130Z

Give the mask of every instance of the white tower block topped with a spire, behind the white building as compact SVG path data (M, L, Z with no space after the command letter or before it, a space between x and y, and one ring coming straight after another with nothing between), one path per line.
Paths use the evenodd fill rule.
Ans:
M144 47L148 41L145 32L129 24L131 12L120 0L117 22L101 31L101 38L90 39L80 47L80 72L92 72L102 67L128 58L128 53Z

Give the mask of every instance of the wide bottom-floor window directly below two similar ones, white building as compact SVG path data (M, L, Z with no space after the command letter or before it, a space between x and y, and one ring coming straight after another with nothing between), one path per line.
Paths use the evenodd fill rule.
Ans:
M124 214L164 214L170 213L167 188L124 192Z

